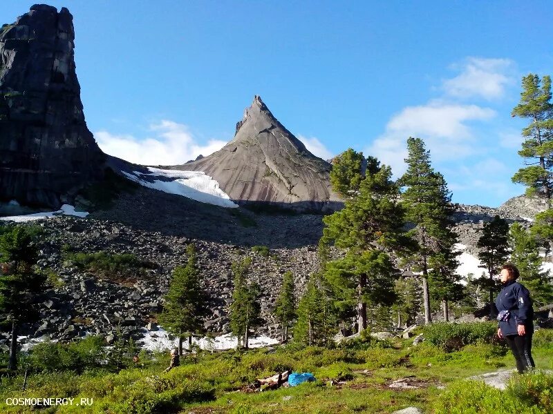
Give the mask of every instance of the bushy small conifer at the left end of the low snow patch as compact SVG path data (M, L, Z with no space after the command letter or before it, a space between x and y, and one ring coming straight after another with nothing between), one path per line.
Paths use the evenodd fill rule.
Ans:
M182 355L182 342L188 336L189 349L192 335L203 333L204 317L207 315L207 295L201 286L200 272L196 266L194 245L187 246L187 264L173 271L165 305L158 322L178 337L178 353Z

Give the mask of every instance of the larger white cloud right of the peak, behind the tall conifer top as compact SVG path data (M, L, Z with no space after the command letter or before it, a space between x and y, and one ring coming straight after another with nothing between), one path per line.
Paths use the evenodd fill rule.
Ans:
M433 161L458 159L471 154L474 133L467 124L485 121L496 115L490 108L430 101L426 105L409 106L394 115L383 135L375 139L365 152L392 167L394 175L405 171L408 137L420 137L431 151Z

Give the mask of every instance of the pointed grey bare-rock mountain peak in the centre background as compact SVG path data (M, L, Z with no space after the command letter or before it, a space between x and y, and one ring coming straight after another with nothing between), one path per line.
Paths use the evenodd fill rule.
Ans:
M265 202L298 210L340 205L330 187L330 164L312 155L258 96L223 149L172 168L205 172L238 204Z

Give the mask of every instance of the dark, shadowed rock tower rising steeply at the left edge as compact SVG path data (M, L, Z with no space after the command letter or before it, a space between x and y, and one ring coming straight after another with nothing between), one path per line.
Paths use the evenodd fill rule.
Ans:
M73 16L35 5L0 29L0 199L57 208L100 178L75 74Z

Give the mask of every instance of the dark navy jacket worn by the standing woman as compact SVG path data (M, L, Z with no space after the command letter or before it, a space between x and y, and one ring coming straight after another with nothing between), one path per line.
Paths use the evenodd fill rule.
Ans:
M501 335L518 335L517 325L524 325L527 333L534 332L534 309L530 293L520 283L511 280L503 285L497 299L499 312L509 311L509 319L500 321Z

